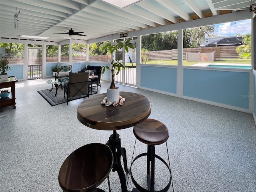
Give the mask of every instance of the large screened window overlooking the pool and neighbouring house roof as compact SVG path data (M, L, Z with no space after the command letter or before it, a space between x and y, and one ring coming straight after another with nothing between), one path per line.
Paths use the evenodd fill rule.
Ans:
M251 69L251 19L188 28L183 34L183 65Z

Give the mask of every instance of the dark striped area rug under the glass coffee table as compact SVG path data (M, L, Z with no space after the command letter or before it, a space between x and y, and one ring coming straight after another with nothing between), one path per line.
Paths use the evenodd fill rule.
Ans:
M55 106L58 104L62 104L67 102L66 99L64 99L64 90L61 88L58 88L57 95L55 96L56 90L53 89L52 92L50 92L51 89L46 89L42 91L38 91L38 93L51 105ZM84 98L84 95L74 97L72 100Z

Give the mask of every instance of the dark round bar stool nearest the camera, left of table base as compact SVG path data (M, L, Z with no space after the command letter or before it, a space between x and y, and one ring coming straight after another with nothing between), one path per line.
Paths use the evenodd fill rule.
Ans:
M113 166L113 154L104 144L84 145L63 162L59 184L64 192L104 192L97 187L108 178ZM108 187L110 189L109 178Z

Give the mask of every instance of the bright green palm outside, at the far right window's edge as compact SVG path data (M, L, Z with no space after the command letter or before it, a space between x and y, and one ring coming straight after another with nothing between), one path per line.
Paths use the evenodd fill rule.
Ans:
M251 58L251 44L252 44L251 34L247 33L244 36L243 45L240 45L236 48L236 52L239 53L238 58L240 59Z

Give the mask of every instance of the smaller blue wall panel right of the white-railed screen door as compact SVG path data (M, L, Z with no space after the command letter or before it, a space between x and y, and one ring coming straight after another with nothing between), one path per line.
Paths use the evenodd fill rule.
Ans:
M140 86L176 94L177 69L155 66L140 67Z

